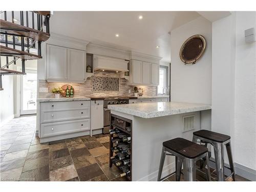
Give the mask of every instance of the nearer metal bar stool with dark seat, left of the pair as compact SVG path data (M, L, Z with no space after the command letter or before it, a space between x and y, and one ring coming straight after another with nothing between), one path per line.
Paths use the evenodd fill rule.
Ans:
M166 155L175 156L176 171L165 176L164 178L161 178L163 164ZM196 181L196 162L202 158L205 158L206 179L207 181L210 181L209 158L207 147L188 141L183 138L175 138L172 140L165 141L163 142L157 180L162 181L176 174L176 181L180 181L181 168L183 164L184 180Z

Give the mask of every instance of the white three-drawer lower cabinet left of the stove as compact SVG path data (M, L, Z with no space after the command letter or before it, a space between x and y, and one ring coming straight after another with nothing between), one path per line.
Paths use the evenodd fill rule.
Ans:
M91 101L54 101L39 104L40 142L89 135Z

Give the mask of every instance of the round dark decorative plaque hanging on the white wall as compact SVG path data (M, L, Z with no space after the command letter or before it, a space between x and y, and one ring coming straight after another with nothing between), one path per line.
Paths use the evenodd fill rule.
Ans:
M180 48L180 59L185 65L195 64L203 55L206 47L205 38L202 35L189 37Z

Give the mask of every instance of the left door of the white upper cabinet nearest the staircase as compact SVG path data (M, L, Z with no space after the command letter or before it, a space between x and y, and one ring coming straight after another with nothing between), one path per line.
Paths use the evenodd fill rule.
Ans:
M67 80L67 48L47 45L47 79Z

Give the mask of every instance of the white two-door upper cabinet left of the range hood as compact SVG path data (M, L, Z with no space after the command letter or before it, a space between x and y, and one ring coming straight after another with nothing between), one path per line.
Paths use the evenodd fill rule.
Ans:
M84 82L86 78L86 52L47 44L47 81Z

